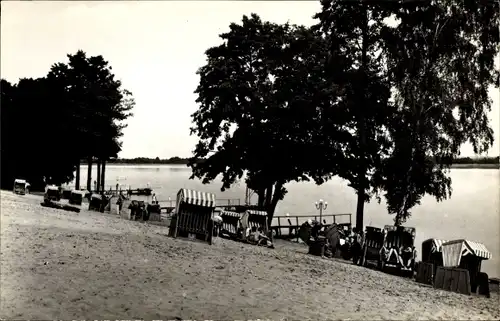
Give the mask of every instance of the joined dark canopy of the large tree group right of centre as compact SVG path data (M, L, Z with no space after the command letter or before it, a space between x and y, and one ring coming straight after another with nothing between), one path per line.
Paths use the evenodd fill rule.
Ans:
M401 224L424 194L450 195L461 145L492 143L498 3L321 4L312 28L252 14L206 51L192 178L220 175L225 189L247 172L272 217L287 182L339 176L358 193L359 227L374 193Z

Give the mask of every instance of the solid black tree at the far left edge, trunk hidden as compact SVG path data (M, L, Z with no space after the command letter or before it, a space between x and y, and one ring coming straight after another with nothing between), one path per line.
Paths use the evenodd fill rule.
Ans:
M59 112L51 84L46 78L21 79L14 86L4 80L2 84L2 186L10 187L14 178L29 179L34 189L53 180L71 179L65 148L53 147L67 119L53 116ZM55 164L55 159L60 163Z

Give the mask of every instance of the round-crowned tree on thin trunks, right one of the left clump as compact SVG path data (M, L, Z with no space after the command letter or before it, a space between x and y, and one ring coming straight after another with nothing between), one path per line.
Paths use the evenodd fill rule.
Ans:
M123 121L132 116L130 111L135 101L128 90L121 88L121 82L114 79L102 56L87 57L79 50L68 55L68 59L68 64L54 64L48 78L59 85L63 92L60 96L64 97L61 102L74 115L67 126L74 129L77 162L87 158L87 189L91 189L92 160L97 158L99 164L117 157L121 150L118 139L126 126Z

